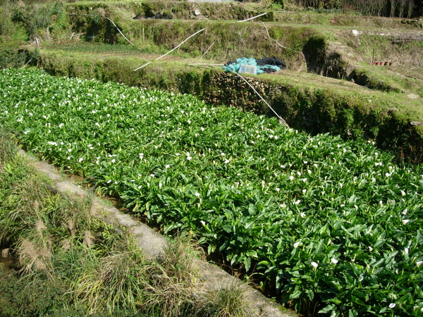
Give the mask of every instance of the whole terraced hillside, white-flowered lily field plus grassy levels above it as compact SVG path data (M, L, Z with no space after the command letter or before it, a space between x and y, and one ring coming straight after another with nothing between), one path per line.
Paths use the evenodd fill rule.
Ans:
M1 72L0 123L20 147L166 234L192 232L298 313L422 313L418 20L264 3L55 10L18 56L58 77ZM223 72L243 56L288 67Z

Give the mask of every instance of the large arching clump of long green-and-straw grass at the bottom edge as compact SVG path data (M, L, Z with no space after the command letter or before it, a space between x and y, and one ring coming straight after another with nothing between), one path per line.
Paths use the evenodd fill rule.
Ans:
M147 261L128 242L128 251L111 251L81 265L75 282L75 300L87 305L90 313L106 307L142 311L149 316L185 316L202 310L206 299L192 270L194 254L177 238L170 242L162 259Z

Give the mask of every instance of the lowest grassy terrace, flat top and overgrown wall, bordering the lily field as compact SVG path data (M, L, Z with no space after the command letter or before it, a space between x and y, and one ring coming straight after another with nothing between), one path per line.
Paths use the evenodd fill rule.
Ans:
M92 49L92 46L89 48ZM100 46L99 49L104 48ZM41 51L40 66L55 75L117 80L138 87L190 93L210 104L230 104L272 115L252 89L235 75L223 73L219 66L190 66L192 63L204 63L204 60L166 56L163 61L154 62L137 73L133 71L135 68L159 55L140 53L131 56L126 51L122 51L122 54L80 53L78 49L75 50ZM206 63L210 62L222 63L219 60ZM382 71L376 74L379 77L376 77L374 85L378 80L384 82L384 78L389 83L388 75L391 74L381 77L379 74ZM423 125L414 126L410 122L423 122L422 97L419 97L415 85L419 80L397 76L404 79L404 85L401 86L398 81L392 85L401 92L396 92L396 89L382 92L348 80L294 70L252 76L249 80L294 128L312 133L331 132L345 138L364 136L374 139L379 147L391 149L397 155L400 155L398 149L403 149L401 152L406 157L418 162L422 159L419 135L422 134ZM410 80L412 85L409 85Z

